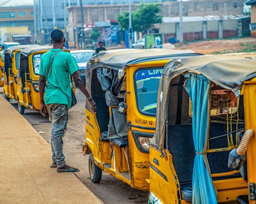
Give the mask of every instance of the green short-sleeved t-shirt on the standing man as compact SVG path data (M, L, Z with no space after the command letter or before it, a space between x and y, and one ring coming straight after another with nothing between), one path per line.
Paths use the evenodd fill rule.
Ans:
M47 70L53 56L60 49L51 49L41 56L39 74L47 80L45 104L66 104L71 107L70 74L78 70L75 58L68 52L59 52L53 59L48 77Z

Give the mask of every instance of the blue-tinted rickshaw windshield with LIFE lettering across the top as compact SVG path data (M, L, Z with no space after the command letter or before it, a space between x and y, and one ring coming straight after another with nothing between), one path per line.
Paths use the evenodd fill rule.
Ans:
M145 115L156 115L157 93L163 67L141 68L135 72L138 110Z

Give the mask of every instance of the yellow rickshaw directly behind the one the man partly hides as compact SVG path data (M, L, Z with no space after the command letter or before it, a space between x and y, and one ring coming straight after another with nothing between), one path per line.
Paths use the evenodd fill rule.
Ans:
M18 57L23 48L30 45L17 45L8 47L5 50L4 65L4 92L5 98L17 100L17 73L18 73Z

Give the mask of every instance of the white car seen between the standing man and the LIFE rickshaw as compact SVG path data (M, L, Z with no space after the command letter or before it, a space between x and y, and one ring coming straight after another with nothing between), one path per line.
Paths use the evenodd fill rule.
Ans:
M71 50L70 52L75 58L79 69L78 73L83 82L86 81L86 65L88 60L93 56L95 50L93 49L80 49L80 50Z

